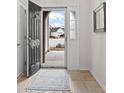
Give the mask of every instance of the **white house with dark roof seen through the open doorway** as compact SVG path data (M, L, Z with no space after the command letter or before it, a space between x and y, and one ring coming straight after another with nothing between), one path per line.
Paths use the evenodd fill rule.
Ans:
M62 27L52 27L50 29L50 36L55 37L55 38L59 38L61 36L64 36L64 28L62 28Z

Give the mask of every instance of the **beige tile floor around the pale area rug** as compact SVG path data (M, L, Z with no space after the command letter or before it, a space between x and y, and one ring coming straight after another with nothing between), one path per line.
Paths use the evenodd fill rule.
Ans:
M105 93L89 71L68 71L71 93ZM29 93L25 91L29 78L23 76L17 82L17 93ZM30 93L63 93L63 92L30 92Z

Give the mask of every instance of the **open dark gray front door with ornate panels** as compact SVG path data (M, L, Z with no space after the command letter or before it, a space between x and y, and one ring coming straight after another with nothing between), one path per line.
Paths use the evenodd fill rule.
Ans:
M41 67L40 13L41 8L29 2L29 75L36 73Z

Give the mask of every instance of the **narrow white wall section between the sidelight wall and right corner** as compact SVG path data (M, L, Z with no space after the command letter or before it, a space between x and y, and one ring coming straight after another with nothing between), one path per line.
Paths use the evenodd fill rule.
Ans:
M79 4L79 65L85 70L91 61L90 0L80 0Z

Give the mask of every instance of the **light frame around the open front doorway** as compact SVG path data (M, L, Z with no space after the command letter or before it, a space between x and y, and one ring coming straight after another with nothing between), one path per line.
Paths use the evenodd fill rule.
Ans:
M65 62L65 67L67 68L67 36L68 36L68 29L67 29L67 7L41 7L41 33L43 35L43 12L44 11L65 11L65 41L64 41L64 45L65 45L65 48L64 48L64 62ZM41 35L41 38L42 38L42 35ZM41 39L42 41L42 39ZM43 43L43 41L42 41ZM42 44L43 45L43 44ZM41 46L42 46L41 45ZM43 52L43 46L41 47L41 52ZM42 53L41 53L42 54ZM43 56L42 56L43 57ZM43 59L41 57L41 60ZM41 66L42 66L42 61L41 61Z

